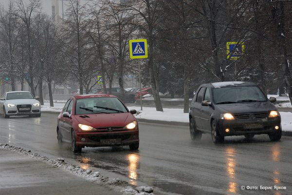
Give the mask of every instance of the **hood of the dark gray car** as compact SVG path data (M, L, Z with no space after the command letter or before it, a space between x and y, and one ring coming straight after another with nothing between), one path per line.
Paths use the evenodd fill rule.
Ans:
M221 113L257 113L277 110L274 104L269 101L265 102L248 102L248 103L233 103L233 104L216 104Z

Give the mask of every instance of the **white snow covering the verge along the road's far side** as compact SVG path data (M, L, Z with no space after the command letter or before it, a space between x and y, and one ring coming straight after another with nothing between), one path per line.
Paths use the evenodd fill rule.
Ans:
M59 113L62 111L64 103L55 103L55 107L50 107L50 103L45 102L45 105L41 107L42 111L49 111ZM143 111L140 111L140 106L129 106L129 110L135 109L138 114L136 118L150 119L150 120L162 120L162 121L175 121L175 122L189 122L188 113L183 113L183 109L179 108L164 108L164 112L157 112L155 107L144 107ZM282 118L282 130L292 131L292 113L280 112Z

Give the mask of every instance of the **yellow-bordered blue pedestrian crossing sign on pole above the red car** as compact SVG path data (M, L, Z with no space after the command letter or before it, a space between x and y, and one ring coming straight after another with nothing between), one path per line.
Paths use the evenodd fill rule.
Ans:
M146 39L129 40L129 49L130 59L148 58Z

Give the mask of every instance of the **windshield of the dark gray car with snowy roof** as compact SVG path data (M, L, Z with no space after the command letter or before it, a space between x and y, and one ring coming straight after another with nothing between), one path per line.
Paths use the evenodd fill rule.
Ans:
M213 89L216 104L267 101L257 86L222 87Z

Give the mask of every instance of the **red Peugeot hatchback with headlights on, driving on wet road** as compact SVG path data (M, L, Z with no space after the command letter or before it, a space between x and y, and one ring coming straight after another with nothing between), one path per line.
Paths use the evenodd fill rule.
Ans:
M76 95L58 116L58 144L72 144L72 151L100 146L139 148L139 128L133 114L117 97L108 94Z

